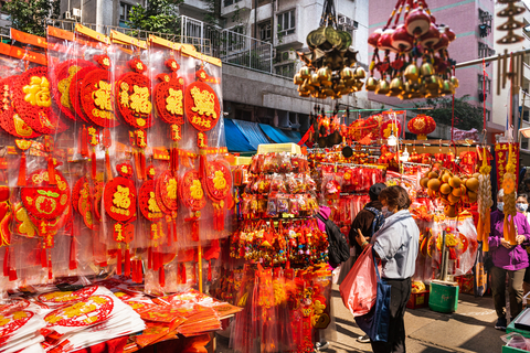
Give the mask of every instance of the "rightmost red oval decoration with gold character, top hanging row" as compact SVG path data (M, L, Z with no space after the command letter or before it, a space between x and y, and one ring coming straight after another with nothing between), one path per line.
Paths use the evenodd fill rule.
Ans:
M186 88L188 121L199 131L211 130L219 121L221 106L218 95L208 84L194 82Z

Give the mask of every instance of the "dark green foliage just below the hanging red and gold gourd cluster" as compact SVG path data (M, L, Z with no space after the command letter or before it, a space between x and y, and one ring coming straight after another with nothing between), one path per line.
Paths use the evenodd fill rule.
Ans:
M483 131L484 111L481 107L474 106L468 103L469 95L460 98L455 98L455 128L460 130L477 129ZM420 107L432 107L427 110L427 115L432 116L437 124L451 126L453 117L453 99L452 98L434 98L426 99L425 104L415 104ZM416 113L425 113L425 110L417 110Z

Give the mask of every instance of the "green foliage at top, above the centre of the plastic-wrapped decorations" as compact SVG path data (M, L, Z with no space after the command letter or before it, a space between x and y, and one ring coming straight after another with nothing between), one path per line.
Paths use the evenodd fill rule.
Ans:
M127 24L136 30L178 34L179 4L182 2L184 0L148 0L146 7L132 7Z

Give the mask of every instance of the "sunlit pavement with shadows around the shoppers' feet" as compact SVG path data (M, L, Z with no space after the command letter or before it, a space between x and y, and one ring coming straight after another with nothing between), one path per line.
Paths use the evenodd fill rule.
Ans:
M332 293L336 330L328 333L330 346L326 352L372 352L370 343L357 342L363 332L343 306L338 287L333 286ZM406 352L501 352L500 336L506 333L495 329L497 315L492 298L459 295L458 299L458 309L454 313L439 313L428 308L406 310ZM227 339L218 336L216 352L233 352Z

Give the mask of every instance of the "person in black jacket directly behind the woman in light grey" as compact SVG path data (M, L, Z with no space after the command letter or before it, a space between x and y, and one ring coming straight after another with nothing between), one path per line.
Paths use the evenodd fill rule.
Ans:
M342 282L342 280L346 278L348 272L350 271L351 267L356 263L357 258L359 255L361 255L361 246L357 244L356 237L358 235L357 229L361 229L362 234L367 235L367 240L370 242L370 238L372 236L372 231L378 231L379 227L381 226L380 223L381 218L384 218L384 215L381 211L383 205L379 201L379 194L383 189L385 189L386 185L383 183L377 183L370 186L370 190L368 191L368 195L370 196L370 202L364 205L364 208L359 211L357 214L356 218L351 223L350 227L350 233L348 235L348 239L350 242L351 246L351 258L347 263L342 264L341 269L340 269L340 275L339 275L339 285ZM375 225L373 223L377 223ZM379 225L379 227L378 227ZM370 338L364 334L361 335L357 339L357 341L361 343L370 343Z

